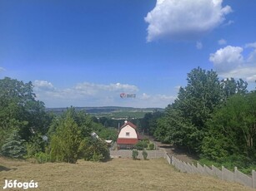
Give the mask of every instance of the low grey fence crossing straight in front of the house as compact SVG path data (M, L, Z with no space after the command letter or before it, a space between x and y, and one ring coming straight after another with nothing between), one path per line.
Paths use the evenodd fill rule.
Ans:
M147 150L148 159L163 158L163 149L160 150ZM110 156L112 158L132 158L133 150L110 150ZM138 150L138 159L143 159L143 151Z

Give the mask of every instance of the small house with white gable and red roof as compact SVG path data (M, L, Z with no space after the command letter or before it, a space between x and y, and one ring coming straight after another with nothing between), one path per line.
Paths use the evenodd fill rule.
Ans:
M139 140L137 126L125 120L118 134L118 149L133 149Z

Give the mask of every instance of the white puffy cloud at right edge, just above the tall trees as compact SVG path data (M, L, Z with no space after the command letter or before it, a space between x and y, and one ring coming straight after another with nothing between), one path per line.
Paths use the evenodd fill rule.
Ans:
M210 54L209 61L213 62L213 66L220 76L255 81L256 44L249 43L244 47L253 47L253 51L250 51L248 58L243 56L243 47L227 46Z

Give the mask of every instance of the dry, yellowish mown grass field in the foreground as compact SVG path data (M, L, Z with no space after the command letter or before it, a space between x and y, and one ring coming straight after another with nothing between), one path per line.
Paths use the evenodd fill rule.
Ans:
M179 173L165 159L33 164L0 158L1 189L5 179L38 182L38 189L29 190L253 190L211 177Z

